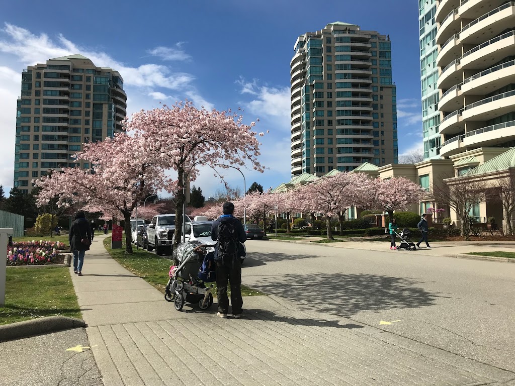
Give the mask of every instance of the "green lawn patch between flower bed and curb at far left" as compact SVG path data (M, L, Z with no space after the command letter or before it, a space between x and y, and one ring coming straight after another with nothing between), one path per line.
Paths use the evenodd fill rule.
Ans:
M53 315L81 318L68 268L8 268L0 324Z

